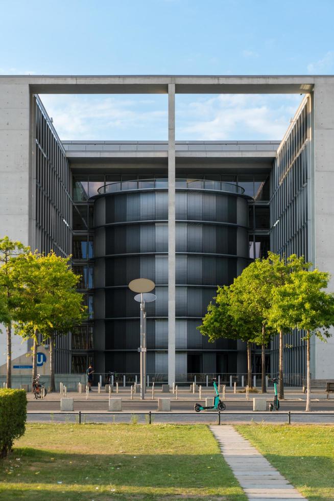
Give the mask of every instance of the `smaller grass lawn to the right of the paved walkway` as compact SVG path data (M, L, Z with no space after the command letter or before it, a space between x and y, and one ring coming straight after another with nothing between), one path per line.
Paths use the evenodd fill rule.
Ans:
M235 426L310 501L334 499L334 426Z

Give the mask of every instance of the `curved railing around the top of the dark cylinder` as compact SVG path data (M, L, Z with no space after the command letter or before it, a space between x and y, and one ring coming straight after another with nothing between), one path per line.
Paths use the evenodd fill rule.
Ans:
M225 181L210 181L208 179L176 179L175 188L185 188L188 190L213 190L224 191L242 195L244 188ZM116 181L98 189L100 195L106 193L116 193L129 190L152 190L168 189L168 179L134 179L133 181Z

